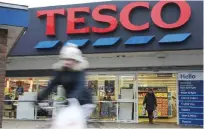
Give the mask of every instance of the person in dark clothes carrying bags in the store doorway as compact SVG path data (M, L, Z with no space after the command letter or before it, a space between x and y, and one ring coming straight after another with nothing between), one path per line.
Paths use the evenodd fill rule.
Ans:
M149 89L146 94L143 105L146 106L148 112L149 123L153 124L153 111L157 108L157 99L153 92L153 89Z

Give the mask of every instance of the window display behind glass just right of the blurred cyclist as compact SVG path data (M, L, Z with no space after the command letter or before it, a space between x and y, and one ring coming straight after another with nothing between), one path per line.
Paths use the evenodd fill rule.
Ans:
M116 76L89 75L87 85L96 101L101 101L94 110L91 119L116 120L116 103L112 102L116 99Z

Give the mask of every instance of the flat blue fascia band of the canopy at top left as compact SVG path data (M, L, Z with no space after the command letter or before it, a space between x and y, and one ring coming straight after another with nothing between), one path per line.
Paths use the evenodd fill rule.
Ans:
M28 27L29 13L27 10L0 7L0 25Z

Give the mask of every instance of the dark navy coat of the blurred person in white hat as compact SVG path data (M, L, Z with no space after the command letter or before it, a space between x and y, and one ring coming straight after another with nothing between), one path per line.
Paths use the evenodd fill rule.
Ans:
M84 71L56 71L48 87L38 94L38 100L45 99L57 85L62 85L65 89L67 98L76 98L81 105L91 104L92 96L88 88L85 87L84 82Z

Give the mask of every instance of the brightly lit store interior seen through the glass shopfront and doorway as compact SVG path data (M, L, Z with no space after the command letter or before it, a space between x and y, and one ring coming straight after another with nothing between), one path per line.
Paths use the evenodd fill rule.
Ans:
M176 74L108 74L87 75L86 86L92 91L97 108L91 119L100 121L124 121L145 123L147 116L142 115L143 100L148 88L155 92L158 104L157 122L176 122ZM7 78L5 86L5 100L25 100L32 98L37 92L48 85L50 77L39 78ZM57 89L53 90L47 98L49 100L61 100L57 95ZM137 103L138 102L138 103ZM23 107L29 104L22 102L5 102L4 117L11 119L29 116ZM27 119L49 119L52 111L36 110L30 107L30 117ZM138 113L137 113L138 112ZM21 115L20 115L21 114ZM24 114L24 115L23 115Z

